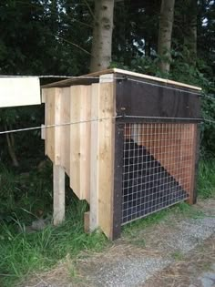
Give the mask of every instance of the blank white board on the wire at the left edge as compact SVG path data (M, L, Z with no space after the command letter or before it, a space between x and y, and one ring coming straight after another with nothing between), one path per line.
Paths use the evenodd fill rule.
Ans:
M39 104L38 77L0 77L0 108Z

